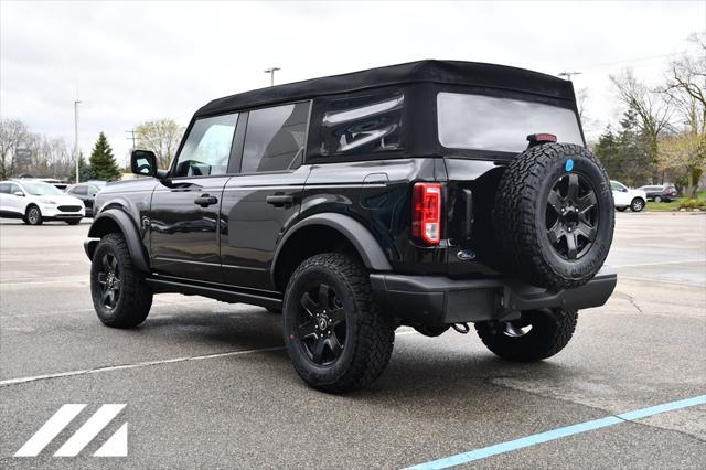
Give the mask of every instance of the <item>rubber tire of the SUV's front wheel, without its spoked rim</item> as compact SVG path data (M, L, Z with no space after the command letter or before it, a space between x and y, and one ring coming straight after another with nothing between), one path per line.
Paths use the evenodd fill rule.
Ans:
M103 257L106 254L115 257L120 273L120 293L113 309L104 305L103 290L98 281ZM98 319L107 327L133 328L142 323L149 314L152 290L145 282L145 276L135 267L122 234L110 233L98 242L90 264L90 295Z

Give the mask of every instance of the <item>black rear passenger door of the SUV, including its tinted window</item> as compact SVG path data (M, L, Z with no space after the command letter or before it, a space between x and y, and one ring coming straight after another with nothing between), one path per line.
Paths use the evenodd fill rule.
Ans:
M255 109L243 119L238 173L221 206L224 282L263 289L277 243L299 214L309 167L301 167L310 102ZM237 139L236 139L237 140Z

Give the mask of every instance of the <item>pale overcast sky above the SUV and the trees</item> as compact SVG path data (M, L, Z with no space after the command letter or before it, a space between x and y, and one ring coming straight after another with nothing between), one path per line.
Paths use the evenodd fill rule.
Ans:
M666 2L11 2L0 1L0 115L89 153L105 131L126 161L125 131L269 84L419 58L580 71L588 113L620 108L608 75L657 82L706 1ZM601 126L589 129L596 135Z

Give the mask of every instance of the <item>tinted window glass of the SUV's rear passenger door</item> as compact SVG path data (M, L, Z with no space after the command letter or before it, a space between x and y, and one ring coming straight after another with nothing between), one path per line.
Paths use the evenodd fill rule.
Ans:
M240 172L281 171L304 147L309 103L250 111Z

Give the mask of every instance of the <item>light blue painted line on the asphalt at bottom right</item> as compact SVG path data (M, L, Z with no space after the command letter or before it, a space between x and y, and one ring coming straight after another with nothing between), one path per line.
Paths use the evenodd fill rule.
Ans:
M506 442L496 444L490 447L483 447L481 449L471 450L469 452L457 453L456 456L450 456L442 459L419 463L414 467L408 467L407 470L446 469L449 467L460 466L462 463L469 463L474 460L484 459L486 457L498 456L499 453L505 453L512 450L535 446L537 444L560 439L563 437L574 436L581 432L588 432L595 429L613 426L620 423L645 418L648 416L659 415L660 413L674 412L676 409L687 408L689 406L696 406L696 405L705 405L705 404L706 404L706 395L696 396L694 398L681 399L678 402L665 403L663 405L651 406L649 408L642 408L642 409L635 409L634 412L622 413L616 416L608 416L601 419L593 419L591 421L580 423L578 425L566 426L563 428L557 428L549 431L535 434L532 436L523 437L521 439L509 440Z

